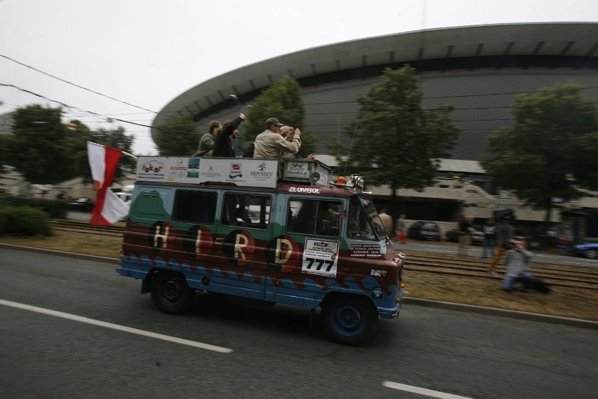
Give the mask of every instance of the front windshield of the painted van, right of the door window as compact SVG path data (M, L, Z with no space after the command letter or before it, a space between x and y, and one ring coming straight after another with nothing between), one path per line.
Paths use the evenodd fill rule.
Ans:
M387 236L371 198L351 198L347 236L368 241L380 241Z

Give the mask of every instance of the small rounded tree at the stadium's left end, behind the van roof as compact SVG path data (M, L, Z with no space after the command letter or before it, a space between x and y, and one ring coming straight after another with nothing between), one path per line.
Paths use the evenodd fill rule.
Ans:
M154 141L160 155L190 156L197 151L202 133L189 114L175 115L158 128Z

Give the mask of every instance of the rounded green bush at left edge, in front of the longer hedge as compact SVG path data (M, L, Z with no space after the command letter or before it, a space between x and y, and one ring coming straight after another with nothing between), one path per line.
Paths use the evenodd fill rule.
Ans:
M15 236L52 236L48 215L30 206L4 206L0 208L0 234Z

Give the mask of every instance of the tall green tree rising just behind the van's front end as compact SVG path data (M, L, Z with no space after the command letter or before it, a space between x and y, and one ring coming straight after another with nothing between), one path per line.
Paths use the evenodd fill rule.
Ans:
M418 83L416 70L408 65L385 69L380 82L357 97L360 109L345 129L350 147L338 140L327 143L340 170L359 173L370 184L390 184L395 214L396 190L421 191L432 184L439 158L449 157L460 133L451 121L451 105L422 108Z

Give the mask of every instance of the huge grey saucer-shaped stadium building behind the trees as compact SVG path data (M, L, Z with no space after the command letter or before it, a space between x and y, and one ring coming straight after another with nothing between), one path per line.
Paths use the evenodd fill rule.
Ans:
M453 172L472 173L478 181L483 181L484 173L480 173L474 161L486 153L486 137L490 133L511 125L512 104L517 94L574 81L582 86L584 95L598 97L598 23L427 29L281 55L227 72L182 93L154 119L152 136L156 135L157 126L174 114L190 114L204 130L212 119L232 119L239 112L239 104L230 95L251 104L260 90L283 76L291 76L303 88L306 123L302 130L316 133L319 138L316 153L326 154L325 142L345 136L345 126L358 109L357 95L378 82L385 68L406 64L418 71L423 107L453 104L453 121L462 128L458 144L451 151L453 159L446 162L451 166L441 172L446 177ZM464 162L455 162L459 160ZM478 201L478 196L490 197L485 194L487 187L483 184L481 191L463 188L463 195L454 194L454 188L462 184L438 184L438 188L446 188L443 186L450 186L451 194L446 194L446 190L445 194L432 194L426 189L423 194L406 191L399 195L412 202L411 211L409 205L407 210L414 219L428 215L426 218L437 220L455 220L463 207ZM384 203L390 198L390 190L378 189L374 194ZM477 194L472 192L473 197L467 196L467 191ZM435 215L426 213L430 204L434 205ZM479 217L489 216L488 210L479 213L483 215ZM542 218L542 215L529 217Z

